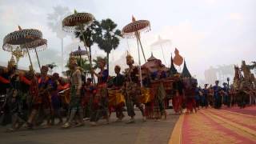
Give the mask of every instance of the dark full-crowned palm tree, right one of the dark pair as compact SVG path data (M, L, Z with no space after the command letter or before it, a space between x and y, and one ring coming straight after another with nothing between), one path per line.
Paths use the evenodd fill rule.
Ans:
M116 29L117 24L110 18L103 19L99 26L100 28L96 30L95 42L98 43L99 49L106 52L107 70L109 70L110 52L118 47L121 30Z

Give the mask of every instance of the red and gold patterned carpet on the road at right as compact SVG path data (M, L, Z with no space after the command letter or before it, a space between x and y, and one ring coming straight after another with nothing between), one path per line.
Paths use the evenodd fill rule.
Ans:
M214 109L181 115L169 143L256 143L256 117Z

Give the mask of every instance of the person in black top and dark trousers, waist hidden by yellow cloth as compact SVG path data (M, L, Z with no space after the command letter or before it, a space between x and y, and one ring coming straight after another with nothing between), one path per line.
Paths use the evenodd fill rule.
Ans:
M120 66L114 66L114 72L115 74L117 74L113 79L112 89L114 90L121 90L125 82L125 77L122 74L120 74L120 71L121 71ZM118 121L122 121L122 118L125 117L125 115L122 113L123 106L124 106L124 102L118 102L118 105L114 107Z

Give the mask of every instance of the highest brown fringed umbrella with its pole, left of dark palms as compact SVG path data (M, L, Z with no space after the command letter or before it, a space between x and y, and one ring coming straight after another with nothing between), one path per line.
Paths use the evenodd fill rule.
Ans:
M78 13L76 10L74 10L74 14L71 14L62 20L62 30L66 31L66 32L79 31L80 34L82 34L84 46L86 47L86 55L88 56L88 59L90 62L90 67L92 67L92 62L91 62L90 54L89 54L87 46L86 46L86 40L85 40L83 31L86 29L87 26L90 26L90 24L92 22L94 22L93 14ZM92 74L92 78L94 79L93 74Z

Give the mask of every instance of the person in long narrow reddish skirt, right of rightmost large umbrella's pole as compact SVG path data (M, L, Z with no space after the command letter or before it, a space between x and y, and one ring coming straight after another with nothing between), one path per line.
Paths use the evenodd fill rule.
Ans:
M165 110L165 98L166 98L166 90L163 87L162 79L166 78L166 72L163 70L161 61L158 61L158 68L152 74L152 79L154 81L159 81L158 86L155 88L154 94L154 118L155 121L159 121L162 118L162 115L166 118L166 110Z

